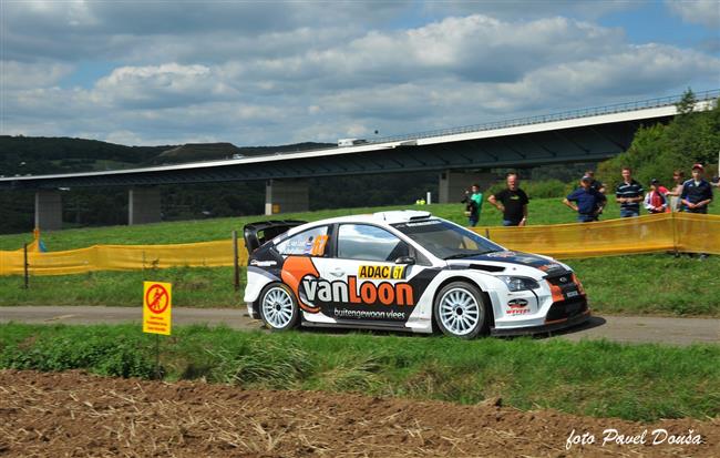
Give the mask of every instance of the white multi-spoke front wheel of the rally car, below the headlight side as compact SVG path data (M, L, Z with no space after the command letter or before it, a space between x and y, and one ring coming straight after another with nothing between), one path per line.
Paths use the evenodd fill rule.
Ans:
M487 307L477 286L465 282L445 285L435 297L435 323L448 336L471 339L487 330Z

